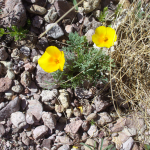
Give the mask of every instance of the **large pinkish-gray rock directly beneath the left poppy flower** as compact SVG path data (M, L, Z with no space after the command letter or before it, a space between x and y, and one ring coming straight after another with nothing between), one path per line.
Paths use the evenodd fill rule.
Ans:
M55 85L55 81L51 73L45 72L39 65L36 71L37 84L44 89L57 89L59 86Z

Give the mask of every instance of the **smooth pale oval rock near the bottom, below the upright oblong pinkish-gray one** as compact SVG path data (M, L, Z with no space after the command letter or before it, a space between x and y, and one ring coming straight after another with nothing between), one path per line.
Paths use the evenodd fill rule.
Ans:
M38 126L33 131L33 138L39 139L39 138L43 137L47 132L48 132L47 126L45 126L45 125Z

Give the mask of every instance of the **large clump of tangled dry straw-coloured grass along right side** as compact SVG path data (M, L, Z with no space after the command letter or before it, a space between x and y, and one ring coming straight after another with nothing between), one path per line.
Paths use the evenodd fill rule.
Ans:
M115 96L142 114L150 128L150 4L134 1L117 29L118 44L112 58L117 67Z

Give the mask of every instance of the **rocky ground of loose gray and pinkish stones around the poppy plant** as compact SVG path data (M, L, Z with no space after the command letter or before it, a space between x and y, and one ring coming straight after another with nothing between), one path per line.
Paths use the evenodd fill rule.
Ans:
M124 115L118 119L110 99L109 86L97 95L104 85L90 89L48 89L51 74L37 64L50 45L61 48L68 33L77 31L89 43L94 30L101 26L97 15L108 6L108 16L117 8L117 0L88 0L72 11L46 35L38 36L72 6L61 0L1 0L3 12L0 26L27 26L25 39L14 41L10 35L0 37L0 149L11 150L89 150L85 143L100 149L113 145L116 149L142 150L134 137L149 135L140 114ZM129 1L123 4L124 8ZM108 17L107 21L110 21ZM122 106L126 108L126 106ZM145 140L145 139L144 139ZM146 139L147 144L150 140ZM73 147L74 146L74 147Z

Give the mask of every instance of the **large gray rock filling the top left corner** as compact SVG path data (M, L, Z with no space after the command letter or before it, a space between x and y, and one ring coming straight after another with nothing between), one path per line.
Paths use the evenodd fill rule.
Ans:
M26 23L26 10L22 0L3 0L0 4L3 13L0 15L0 25L23 27Z

